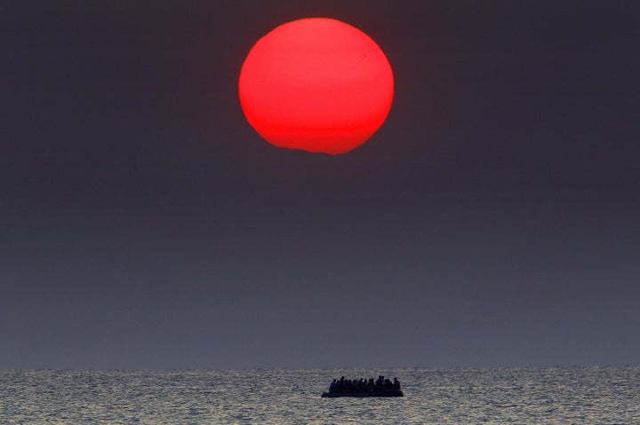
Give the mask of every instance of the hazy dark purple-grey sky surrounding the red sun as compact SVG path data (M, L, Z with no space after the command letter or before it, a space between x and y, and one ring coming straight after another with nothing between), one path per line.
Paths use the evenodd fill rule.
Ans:
M640 4L397 3L0 6L0 368L637 365ZM394 69L345 155L237 98L309 16Z

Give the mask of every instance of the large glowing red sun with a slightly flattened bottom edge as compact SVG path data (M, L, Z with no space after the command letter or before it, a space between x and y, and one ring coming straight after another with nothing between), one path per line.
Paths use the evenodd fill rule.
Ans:
M308 18L260 38L238 88L244 115L270 144L337 154L380 128L394 78L369 35L340 20Z

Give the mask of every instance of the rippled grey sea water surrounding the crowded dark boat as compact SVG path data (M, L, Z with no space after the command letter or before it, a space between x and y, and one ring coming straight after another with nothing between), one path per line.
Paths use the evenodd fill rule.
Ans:
M405 397L321 398L397 376ZM0 371L0 424L640 424L640 367Z

